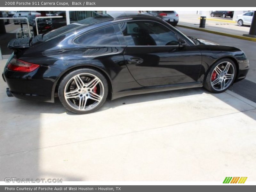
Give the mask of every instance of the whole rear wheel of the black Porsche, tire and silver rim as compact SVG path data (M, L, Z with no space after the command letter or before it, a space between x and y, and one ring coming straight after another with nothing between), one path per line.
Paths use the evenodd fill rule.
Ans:
M108 82L99 71L77 69L61 80L58 93L62 105L69 111L91 113L106 101Z

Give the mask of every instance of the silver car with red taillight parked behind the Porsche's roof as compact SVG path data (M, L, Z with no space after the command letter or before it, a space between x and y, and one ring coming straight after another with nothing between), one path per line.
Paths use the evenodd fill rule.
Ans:
M172 26L176 26L179 22L179 14L175 11L147 11L148 14L160 17Z

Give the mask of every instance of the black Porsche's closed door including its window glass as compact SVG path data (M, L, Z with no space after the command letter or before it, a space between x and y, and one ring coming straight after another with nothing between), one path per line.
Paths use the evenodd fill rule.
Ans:
M179 37L161 23L128 21L119 24L127 47L124 60L141 86L196 82L201 52L196 46L179 47Z

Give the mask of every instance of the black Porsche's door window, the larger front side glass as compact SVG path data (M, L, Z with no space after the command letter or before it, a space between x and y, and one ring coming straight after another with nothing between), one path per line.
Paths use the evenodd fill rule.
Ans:
M119 23L127 45L164 46L178 45L175 34L160 23L152 21L132 21Z

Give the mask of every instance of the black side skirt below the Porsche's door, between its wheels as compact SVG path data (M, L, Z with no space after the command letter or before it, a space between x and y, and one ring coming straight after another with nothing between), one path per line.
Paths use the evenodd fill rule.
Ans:
M112 100L125 97L129 95L139 95L145 93L152 93L152 92L162 92L162 91L171 91L171 90L178 90L178 89L188 89L188 88L196 88L196 87L203 87L202 82L192 82L192 83L180 83L180 84L172 84L172 85L159 85L159 86L150 86L150 87L140 87L140 88L133 88L129 90L123 90L121 92L113 93Z

